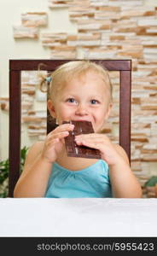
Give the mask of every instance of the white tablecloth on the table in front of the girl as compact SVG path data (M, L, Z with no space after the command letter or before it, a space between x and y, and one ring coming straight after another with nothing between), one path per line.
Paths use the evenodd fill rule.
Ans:
M0 236L157 236L157 199L0 199Z

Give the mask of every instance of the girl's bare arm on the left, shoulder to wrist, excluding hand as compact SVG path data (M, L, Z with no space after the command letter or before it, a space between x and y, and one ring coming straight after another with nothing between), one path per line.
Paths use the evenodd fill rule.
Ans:
M14 197L43 197L52 164L44 160L44 143L35 143L26 155L24 170L15 185Z

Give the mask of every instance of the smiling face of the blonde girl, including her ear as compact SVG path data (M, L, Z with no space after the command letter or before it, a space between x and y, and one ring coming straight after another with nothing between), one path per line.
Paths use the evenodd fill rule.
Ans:
M104 121L108 119L111 103L109 88L101 76L88 72L84 76L71 79L62 87L55 97L55 103L49 100L51 115L62 121L90 121L94 131L101 131Z

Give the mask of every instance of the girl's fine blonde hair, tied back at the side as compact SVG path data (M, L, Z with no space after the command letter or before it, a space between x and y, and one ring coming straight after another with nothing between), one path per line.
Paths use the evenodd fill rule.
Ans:
M47 91L49 98L55 101L56 93L58 90L61 90L64 84L67 84L70 79L82 76L90 71L98 73L98 75L102 77L104 83L108 85L111 102L112 84L109 79L108 70L93 61L68 61L62 64L57 67L53 73L49 73L47 78L43 77L40 84L40 90L45 91L43 88L46 85L46 87L48 87Z

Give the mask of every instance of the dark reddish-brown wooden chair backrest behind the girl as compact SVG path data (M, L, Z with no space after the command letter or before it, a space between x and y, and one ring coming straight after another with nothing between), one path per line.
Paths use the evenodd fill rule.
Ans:
M21 71L41 70L52 72L59 65L71 60L10 60L9 61L9 197L13 196L15 183L20 176L20 95ZM90 60L119 71L119 145L131 160L131 60ZM52 130L47 125L47 131Z

